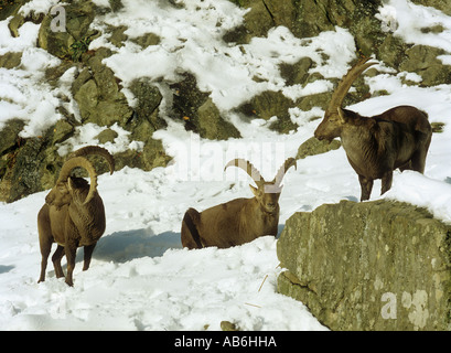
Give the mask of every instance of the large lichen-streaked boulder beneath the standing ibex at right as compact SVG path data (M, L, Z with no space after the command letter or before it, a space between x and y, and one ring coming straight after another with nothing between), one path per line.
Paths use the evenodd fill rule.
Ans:
M450 330L451 226L391 201L292 215L277 245L279 292L332 330Z

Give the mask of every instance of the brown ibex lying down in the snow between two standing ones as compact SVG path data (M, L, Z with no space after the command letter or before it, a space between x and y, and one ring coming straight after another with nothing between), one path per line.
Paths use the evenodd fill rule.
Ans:
M289 158L276 178L267 182L257 169L244 159L229 161L225 169L235 165L254 179L257 188L249 185L255 197L236 199L203 212L186 211L182 222L182 245L190 249L217 246L227 248L241 245L264 235L277 236L279 225L280 185L284 173L296 160Z

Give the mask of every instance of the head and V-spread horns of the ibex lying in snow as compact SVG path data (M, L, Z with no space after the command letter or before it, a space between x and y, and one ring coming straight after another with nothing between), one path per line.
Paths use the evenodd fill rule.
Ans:
M294 165L296 168L296 159L287 159L283 165L280 167L276 178L272 181L265 181L260 172L245 159L237 158L229 161L224 170L226 170L230 165L239 167L249 174L249 176L257 184L257 188L249 184L251 192L254 193L262 208L266 212L272 213L277 210L279 204L280 193L282 192L283 188L281 185L283 175L290 167Z

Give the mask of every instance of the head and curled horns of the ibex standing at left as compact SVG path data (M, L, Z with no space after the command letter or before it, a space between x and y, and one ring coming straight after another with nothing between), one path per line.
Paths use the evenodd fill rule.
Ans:
M82 148L69 154L68 160L63 164L56 185L45 197L47 204L60 208L72 202L84 205L93 200L97 192L97 172L93 164L84 157L87 154L99 154L105 157L108 161L110 173L112 174L115 170L115 160L106 149L96 146ZM89 174L90 186L87 195L83 192L85 186L87 186L87 182L80 178L71 178L71 172L75 168L83 168Z

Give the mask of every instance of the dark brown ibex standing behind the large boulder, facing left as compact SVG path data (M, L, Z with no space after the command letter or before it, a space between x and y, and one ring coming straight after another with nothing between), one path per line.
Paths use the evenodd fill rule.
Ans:
M342 78L314 131L320 140L341 138L347 160L358 175L361 201L369 199L375 179L382 179L380 194L388 191L397 168L423 173L432 136L428 115L415 107L398 106L374 117L342 109L353 82L376 64L367 61L359 60Z

